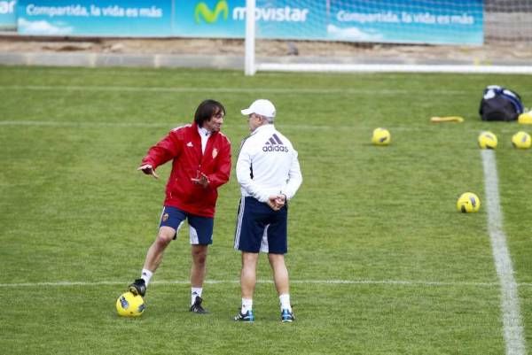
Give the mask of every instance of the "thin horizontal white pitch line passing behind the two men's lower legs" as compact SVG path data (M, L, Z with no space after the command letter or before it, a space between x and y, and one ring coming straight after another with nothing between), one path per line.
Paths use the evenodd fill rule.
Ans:
M431 282L407 280L291 280L293 284L319 284L319 285L388 285L388 286L423 286L423 287L482 287L495 288L498 282ZM98 285L125 285L125 281L99 281L99 282L17 282L0 283L0 288L31 288L31 287L71 287L71 286L98 286ZM206 280L207 284L238 284L239 280ZM257 280L257 283L273 283L271 280ZM188 285L190 281L158 281L151 284L159 285ZM522 286L532 286L532 283L523 283Z

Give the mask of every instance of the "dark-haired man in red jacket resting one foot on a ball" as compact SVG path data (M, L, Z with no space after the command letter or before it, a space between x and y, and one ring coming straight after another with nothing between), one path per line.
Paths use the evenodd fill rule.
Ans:
M231 142L220 132L224 115L222 104L203 101L194 114L194 122L170 131L148 150L138 167L145 174L159 178L155 169L173 160L159 234L147 252L140 279L129 285L133 294L145 295L163 252L176 239L184 220L188 220L192 244L190 311L207 313L201 305L207 246L213 243L217 189L229 181L231 174Z

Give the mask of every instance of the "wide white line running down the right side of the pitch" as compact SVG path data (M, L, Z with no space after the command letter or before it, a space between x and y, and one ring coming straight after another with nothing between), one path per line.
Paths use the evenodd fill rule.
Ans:
M484 169L486 205L488 207L489 238L501 287L501 312L503 313L506 355L524 355L526 349L520 316L518 284L513 277L512 259L506 246L506 235L503 231L495 151L481 150L481 157Z

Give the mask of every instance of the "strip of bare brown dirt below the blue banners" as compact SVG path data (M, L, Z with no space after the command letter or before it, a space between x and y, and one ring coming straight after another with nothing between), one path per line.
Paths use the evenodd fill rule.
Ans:
M0 36L0 52L87 52L116 54L168 54L244 56L244 41L194 38L65 38ZM383 43L263 41L256 42L256 56L333 58L336 61L412 62L462 61L474 64L527 63L532 59L528 42L497 42L482 46L401 45ZM309 59L307 59L309 60Z

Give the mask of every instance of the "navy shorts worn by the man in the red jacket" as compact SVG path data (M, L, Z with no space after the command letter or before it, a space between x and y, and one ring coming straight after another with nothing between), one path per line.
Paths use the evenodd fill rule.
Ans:
M191 244L212 244L213 228L215 219L212 217L203 217L181 211L176 207L164 206L160 214L159 228L162 226L176 229L176 239L179 229L183 227L184 220L188 220Z

